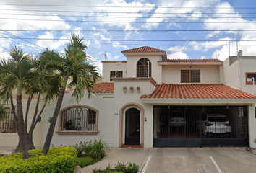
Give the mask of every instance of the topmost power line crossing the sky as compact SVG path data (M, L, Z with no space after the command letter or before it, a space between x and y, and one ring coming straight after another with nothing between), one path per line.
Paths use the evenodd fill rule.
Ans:
M213 7L213 6L91 6L91 5L61 5L61 4L0 4L1 6L64 6L90 8L143 8L143 9L256 9L256 7Z

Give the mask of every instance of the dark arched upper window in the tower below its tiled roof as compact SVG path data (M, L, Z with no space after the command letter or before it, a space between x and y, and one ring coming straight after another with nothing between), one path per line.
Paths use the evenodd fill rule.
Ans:
M148 58L141 58L137 62L137 77L151 77L151 62Z

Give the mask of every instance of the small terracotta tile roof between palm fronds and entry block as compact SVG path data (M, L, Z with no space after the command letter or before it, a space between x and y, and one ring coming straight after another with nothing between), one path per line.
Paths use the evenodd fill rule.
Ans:
M85 89L87 90L87 89ZM65 93L74 91L74 89L67 89ZM114 93L114 83L101 82L94 85L93 93Z

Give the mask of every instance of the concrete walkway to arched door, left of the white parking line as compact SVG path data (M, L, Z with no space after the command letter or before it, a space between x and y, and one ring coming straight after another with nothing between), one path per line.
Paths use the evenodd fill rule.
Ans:
M105 169L108 164L114 167L117 161L124 162L124 164L127 164L127 162L135 163L142 169L148 159L146 156L150 148L110 148L110 150L102 161L82 168L81 173L92 172L95 168ZM139 172L141 171L140 169Z

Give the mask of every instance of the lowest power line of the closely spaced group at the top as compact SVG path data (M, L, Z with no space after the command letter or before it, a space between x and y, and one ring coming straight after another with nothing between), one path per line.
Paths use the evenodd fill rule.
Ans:
M161 23L161 24L170 24L170 23L255 23L256 21L218 21L218 22L147 22L147 21L95 21L95 20L60 20L60 19L21 19L21 18L6 18L1 17L0 19L13 19L13 20L36 20L36 21L48 21L48 22L91 22L91 23Z

